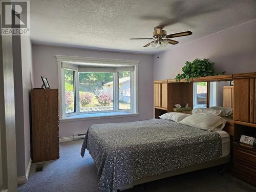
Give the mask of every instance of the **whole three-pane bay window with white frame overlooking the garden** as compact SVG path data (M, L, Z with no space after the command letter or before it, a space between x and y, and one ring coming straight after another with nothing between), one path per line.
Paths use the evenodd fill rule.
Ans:
M138 113L138 65L116 62L58 60L60 119Z

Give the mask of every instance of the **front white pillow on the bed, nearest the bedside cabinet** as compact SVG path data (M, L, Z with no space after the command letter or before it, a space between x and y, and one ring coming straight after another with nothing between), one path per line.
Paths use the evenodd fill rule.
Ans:
M182 121L181 124L198 127L201 130L215 131L222 130L226 124L226 120L217 115L198 115L193 114Z

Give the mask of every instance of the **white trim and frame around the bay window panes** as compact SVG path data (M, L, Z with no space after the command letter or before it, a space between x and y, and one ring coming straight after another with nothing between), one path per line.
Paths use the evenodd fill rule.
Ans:
M140 61L136 61L136 60L120 60L120 59L105 59L105 58L92 58L92 57L74 57L74 56L62 56L62 55L55 55L57 58L57 67L58 67L58 90L59 90L59 119L71 119L73 115L63 115L63 113L66 111L65 109L65 105L63 104L62 101L62 95L65 95L65 84L62 80L63 77L63 69L62 69L62 65L65 65L65 68L70 68L72 70L76 70L78 71L78 66L75 67L75 65L70 64L70 62L77 62L77 65L82 65L82 63L92 63L92 65L94 64L101 64L101 65L119 65L119 66L123 66L123 68L127 67L127 66L134 66L134 72L131 73L131 84L134 83L134 89L131 89L131 96L133 94L133 97L131 97L131 109L133 109L133 111L129 110L130 114L139 114L139 108L138 108L138 67L139 67L139 62ZM76 73L77 74L77 73ZM118 82L118 77L117 75L115 75L116 77L114 77L114 81ZM75 76L75 80L76 82L79 81L78 76ZM132 82L133 81L133 82ZM114 83L116 86L118 86L118 83ZM78 83L75 83L75 95L76 98L78 99ZM116 97L118 94L118 89L114 89L115 90L115 94L114 97ZM135 101L134 101L135 99ZM117 99L115 99L116 102L118 102ZM118 103L115 104L116 108L118 108ZM76 109L79 109L79 102L76 102ZM118 110L118 109L114 109L116 110L116 112L120 111L120 112L127 112L125 110ZM113 111L110 111L113 113ZM100 112L102 113L102 111ZM108 111L104 112L104 113L108 113ZM75 115L74 115L75 116ZM84 114L84 119L90 119L88 117L86 117L87 114ZM118 115L115 115L115 117ZM111 116L109 116L111 117ZM101 118L101 117L99 117ZM105 118L105 117L102 117ZM82 120L83 118L79 118L79 120Z

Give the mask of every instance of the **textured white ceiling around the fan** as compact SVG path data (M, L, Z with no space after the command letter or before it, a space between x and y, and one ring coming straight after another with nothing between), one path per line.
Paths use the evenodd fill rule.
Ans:
M51 45L155 53L153 28L192 31L179 44L256 18L255 0L31 0L31 39ZM178 45L179 45L178 44ZM175 45L168 45L168 47Z

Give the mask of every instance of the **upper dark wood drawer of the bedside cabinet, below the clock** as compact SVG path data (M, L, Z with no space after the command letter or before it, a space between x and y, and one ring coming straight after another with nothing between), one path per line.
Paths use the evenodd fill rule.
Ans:
M240 147L233 147L233 158L237 161L245 162L249 165L256 167L256 155L255 153L246 152Z

